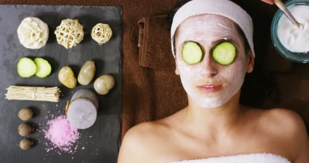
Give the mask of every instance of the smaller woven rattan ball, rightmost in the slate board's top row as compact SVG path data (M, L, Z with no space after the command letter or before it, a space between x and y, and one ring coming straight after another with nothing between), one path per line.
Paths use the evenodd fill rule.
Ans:
M102 45L106 43L113 35L112 30L108 24L98 23L92 28L91 37Z

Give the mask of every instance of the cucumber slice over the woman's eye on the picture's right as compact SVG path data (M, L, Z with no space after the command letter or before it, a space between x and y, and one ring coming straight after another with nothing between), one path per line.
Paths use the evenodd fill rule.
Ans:
M236 48L231 42L221 42L214 46L212 57L220 65L230 65L235 60Z

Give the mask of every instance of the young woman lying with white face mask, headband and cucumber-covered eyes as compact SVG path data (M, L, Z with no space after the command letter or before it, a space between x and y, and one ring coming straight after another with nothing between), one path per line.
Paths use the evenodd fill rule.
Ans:
M251 17L228 0L193 0L171 29L175 73L188 106L131 128L122 141L124 162L309 162L309 139L296 113L239 104L253 71Z

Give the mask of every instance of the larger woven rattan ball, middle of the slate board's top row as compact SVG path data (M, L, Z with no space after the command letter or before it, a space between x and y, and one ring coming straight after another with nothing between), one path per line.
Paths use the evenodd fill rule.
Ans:
M75 19L62 20L55 30L57 42L65 48L76 46L84 38L83 25Z

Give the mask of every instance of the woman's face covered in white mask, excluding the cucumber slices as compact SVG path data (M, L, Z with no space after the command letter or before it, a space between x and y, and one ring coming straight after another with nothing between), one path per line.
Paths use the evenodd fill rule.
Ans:
M183 61L181 51L187 41L197 42L202 51L202 61L189 65ZM229 41L236 48L236 57L228 66L212 58L212 48ZM184 20L175 37L176 74L188 96L204 108L223 105L241 88L246 72L253 70L252 53L246 55L244 40L236 24L223 16L203 14Z

